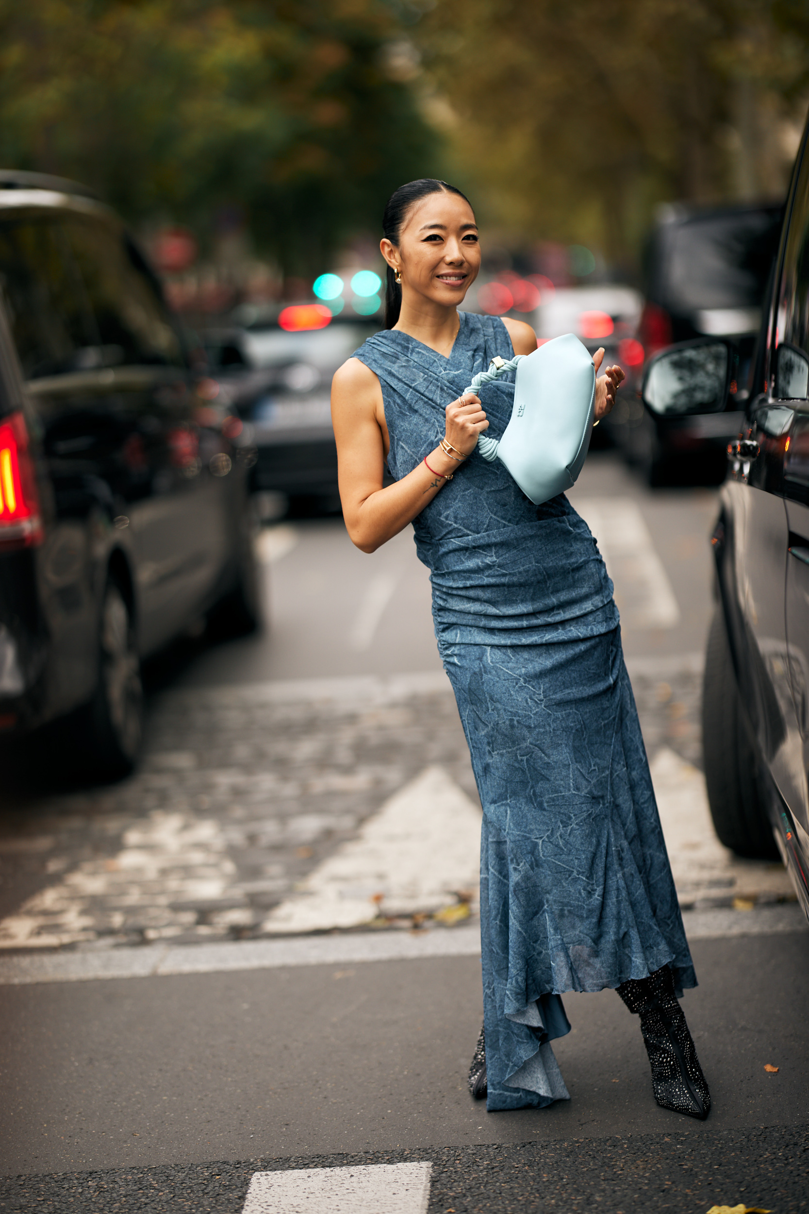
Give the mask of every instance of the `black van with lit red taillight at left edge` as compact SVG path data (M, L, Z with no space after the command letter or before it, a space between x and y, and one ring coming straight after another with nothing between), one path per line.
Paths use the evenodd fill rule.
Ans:
M115 215L0 171L4 742L69 714L84 766L125 772L141 659L216 605L256 622L255 453L212 396Z

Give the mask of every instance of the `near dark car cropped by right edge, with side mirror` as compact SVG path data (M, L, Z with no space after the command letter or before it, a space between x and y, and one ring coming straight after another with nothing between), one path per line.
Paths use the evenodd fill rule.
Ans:
M804 131L739 437L713 533L718 603L705 665L705 776L717 834L780 852L809 915L809 149ZM657 354L644 399L672 416L725 408L737 350ZM775 843L774 843L775 840ZM775 851L777 845L777 852Z

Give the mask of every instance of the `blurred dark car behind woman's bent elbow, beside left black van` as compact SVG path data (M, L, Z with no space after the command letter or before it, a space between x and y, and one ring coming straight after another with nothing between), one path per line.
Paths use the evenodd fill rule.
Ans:
M380 323L343 320L324 304L301 304L203 334L222 398L256 444L256 490L340 507L331 378Z

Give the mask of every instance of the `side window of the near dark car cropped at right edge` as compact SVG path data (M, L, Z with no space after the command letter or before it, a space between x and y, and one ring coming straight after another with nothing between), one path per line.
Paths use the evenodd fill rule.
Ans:
M775 385L779 399L809 397L809 157L792 198L775 314Z

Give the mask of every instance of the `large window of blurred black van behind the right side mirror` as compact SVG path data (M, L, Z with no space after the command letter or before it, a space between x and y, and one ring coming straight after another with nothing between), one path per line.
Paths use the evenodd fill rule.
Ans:
M665 270L668 306L682 312L760 307L780 231L777 208L673 225Z

